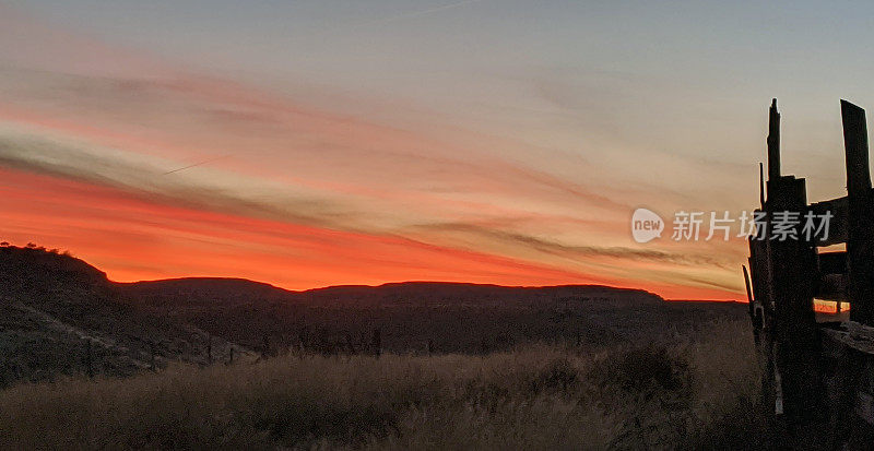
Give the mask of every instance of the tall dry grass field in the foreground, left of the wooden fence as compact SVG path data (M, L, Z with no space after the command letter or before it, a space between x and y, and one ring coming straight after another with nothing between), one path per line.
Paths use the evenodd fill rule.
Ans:
M0 448L736 449L756 440L746 323L591 354L287 356L0 392Z

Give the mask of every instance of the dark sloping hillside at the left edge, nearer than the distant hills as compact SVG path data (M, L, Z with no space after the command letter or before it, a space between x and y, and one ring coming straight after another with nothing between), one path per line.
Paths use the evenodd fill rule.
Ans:
M138 309L104 272L69 254L0 247L0 387L205 360L202 331ZM229 352L218 339L212 346Z

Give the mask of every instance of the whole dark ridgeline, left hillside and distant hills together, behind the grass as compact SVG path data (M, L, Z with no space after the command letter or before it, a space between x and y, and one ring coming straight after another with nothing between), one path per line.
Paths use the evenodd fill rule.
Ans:
M0 387L127 376L279 353L483 353L532 342L652 341L742 318L727 302L665 302L597 285L408 282L290 292L241 278L115 283L69 253L0 247ZM232 351L233 349L233 351Z

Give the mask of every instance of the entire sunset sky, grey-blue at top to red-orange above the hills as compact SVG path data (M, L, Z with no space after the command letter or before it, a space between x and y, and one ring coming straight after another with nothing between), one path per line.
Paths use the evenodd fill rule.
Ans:
M869 2L0 0L0 239L115 281L743 299L744 238L671 222L757 206L772 97L783 171L843 195L872 41Z

